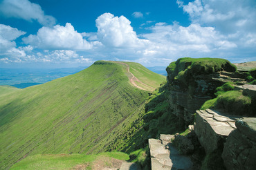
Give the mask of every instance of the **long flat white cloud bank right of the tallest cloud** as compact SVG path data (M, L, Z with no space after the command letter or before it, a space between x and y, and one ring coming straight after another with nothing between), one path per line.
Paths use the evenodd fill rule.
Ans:
M236 44L228 41L212 27L201 27L199 24L191 24L188 27L179 26L178 23L167 25L156 23L151 28L152 33L143 37L161 46L169 46L169 49L184 51L199 50L210 53L212 50L234 48Z

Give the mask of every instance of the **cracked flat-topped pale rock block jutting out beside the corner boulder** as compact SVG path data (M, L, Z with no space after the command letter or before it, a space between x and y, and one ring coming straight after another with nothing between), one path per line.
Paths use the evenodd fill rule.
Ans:
M211 153L223 147L223 142L230 132L236 129L236 120L237 117L221 115L210 109L196 111L194 132L205 149L205 153Z

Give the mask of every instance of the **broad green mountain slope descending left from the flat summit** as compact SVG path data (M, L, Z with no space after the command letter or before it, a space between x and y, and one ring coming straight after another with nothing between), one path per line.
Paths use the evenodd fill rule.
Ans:
M141 81L156 88L165 78L151 74L148 79L158 82ZM120 139L113 133L136 133L131 125L142 116L147 97L147 91L129 84L127 66L104 61L75 75L0 95L0 167L8 169L38 153L118 149L114 140Z

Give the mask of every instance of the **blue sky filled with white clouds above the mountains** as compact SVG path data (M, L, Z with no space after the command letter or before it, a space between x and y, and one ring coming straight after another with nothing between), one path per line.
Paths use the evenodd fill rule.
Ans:
M0 68L256 61L255 0L0 0Z

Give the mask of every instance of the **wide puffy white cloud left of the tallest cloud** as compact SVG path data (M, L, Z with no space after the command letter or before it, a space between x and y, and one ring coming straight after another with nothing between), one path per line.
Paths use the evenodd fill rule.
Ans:
M23 41L37 48L53 50L89 50L93 46L83 39L82 34L77 32L71 23L53 28L44 26L38 30L37 35L29 35Z

